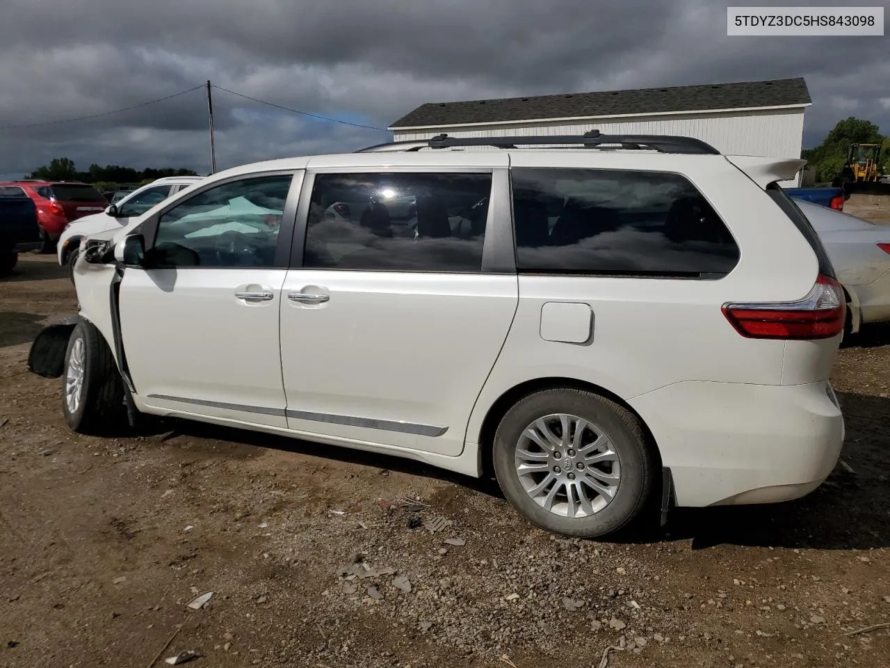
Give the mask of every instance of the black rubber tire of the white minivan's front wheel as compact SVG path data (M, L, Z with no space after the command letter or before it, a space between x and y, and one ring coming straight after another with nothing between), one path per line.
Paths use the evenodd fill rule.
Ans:
M71 370L70 363L77 346L82 346L83 379L79 401L69 405L69 376L77 375ZM99 330L84 320L77 323L68 341L61 403L65 422L78 434L106 434L123 427L126 422L124 384L114 356Z

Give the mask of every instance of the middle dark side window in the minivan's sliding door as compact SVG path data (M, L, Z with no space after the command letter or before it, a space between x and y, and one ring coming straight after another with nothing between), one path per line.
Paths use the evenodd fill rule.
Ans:
M321 174L303 266L481 272L490 174Z

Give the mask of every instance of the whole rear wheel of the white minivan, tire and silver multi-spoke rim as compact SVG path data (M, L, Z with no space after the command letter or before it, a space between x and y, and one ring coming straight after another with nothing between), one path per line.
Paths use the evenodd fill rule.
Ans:
M498 484L514 508L547 531L585 538L629 525L656 473L633 413L570 388L515 403L498 426L493 455Z

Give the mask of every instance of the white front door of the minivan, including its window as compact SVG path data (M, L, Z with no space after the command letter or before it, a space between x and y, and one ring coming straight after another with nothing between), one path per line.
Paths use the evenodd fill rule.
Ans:
M239 177L145 225L147 234L157 227L146 241L158 268L128 267L120 285L126 362L144 403L287 426L279 355L287 253L280 251L289 249L294 208L289 221L284 214L300 181L293 173Z

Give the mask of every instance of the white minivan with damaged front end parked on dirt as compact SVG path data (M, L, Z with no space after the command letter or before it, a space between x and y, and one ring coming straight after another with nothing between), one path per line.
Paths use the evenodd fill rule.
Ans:
M79 314L29 366L78 432L145 413L409 457L562 534L794 499L844 438L843 291L778 185L801 167L596 131L236 167L85 240Z

